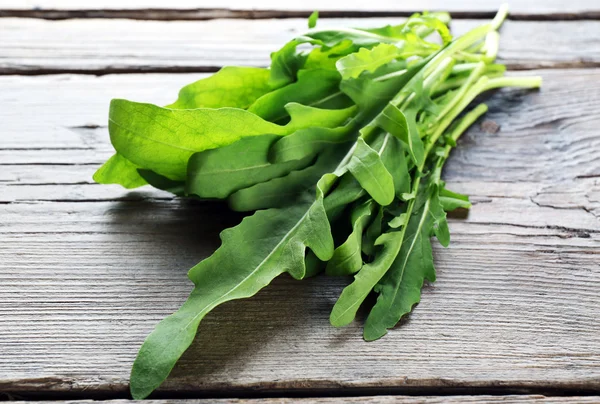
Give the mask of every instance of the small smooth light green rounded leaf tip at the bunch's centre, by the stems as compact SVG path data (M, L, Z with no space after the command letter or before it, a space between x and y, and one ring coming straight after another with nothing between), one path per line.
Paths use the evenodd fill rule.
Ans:
M378 204L386 206L392 203L395 195L394 178L381 161L379 153L362 138L358 138L347 167Z

